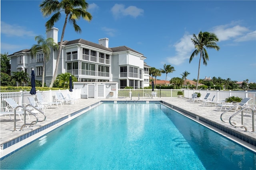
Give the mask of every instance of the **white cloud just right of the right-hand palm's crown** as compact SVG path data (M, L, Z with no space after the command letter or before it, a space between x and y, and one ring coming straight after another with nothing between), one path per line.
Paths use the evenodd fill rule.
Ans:
M235 25L233 27L230 26L231 24L219 25L214 27L211 32L214 32L217 35L219 41L226 41L232 38L237 38L248 32L248 29L246 27L242 27L240 25Z

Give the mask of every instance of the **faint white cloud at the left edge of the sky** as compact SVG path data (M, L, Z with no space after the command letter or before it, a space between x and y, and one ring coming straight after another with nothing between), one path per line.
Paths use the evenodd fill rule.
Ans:
M25 27L19 25L10 25L1 21L1 33L7 37L35 37L36 33L27 31Z

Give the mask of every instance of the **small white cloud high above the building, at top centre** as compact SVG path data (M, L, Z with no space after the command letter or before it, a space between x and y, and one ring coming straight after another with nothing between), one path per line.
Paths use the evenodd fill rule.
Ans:
M144 10L137 8L136 6L125 8L123 4L115 4L111 8L111 12L115 18L120 18L122 16L132 16L136 18L137 16L143 15Z

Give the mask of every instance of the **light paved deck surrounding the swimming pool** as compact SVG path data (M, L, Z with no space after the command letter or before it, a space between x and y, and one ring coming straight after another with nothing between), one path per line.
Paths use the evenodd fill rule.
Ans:
M2 158L2 156L5 156L6 153L8 152L7 149L4 149L3 144L4 143L11 143L14 142L13 140L24 135L27 134L29 132L34 131L35 129L38 129L40 127L43 127L44 125L48 125L49 123L52 123L54 121L57 121L58 119L68 116L70 115L70 113L74 113L77 112L81 109L84 109L85 107L88 106L92 106L93 104L100 102L100 101L130 101L130 98L116 98L116 99L78 99L76 101L76 103L74 104L64 104L62 108L57 108L56 106L52 106L52 108L48 107L48 109L45 110L45 114L46 114L46 121L44 122L38 122L36 125L32 126L32 127L24 127L22 131L20 131L20 127L23 125L22 121L20 121L19 117L17 116L17 122L16 122L16 131L14 131L14 120L13 120L13 116L12 120L10 120L9 115L6 116L1 116L0 117L0 157ZM216 111L214 106L201 106L201 103L191 103L188 102L188 99L185 98L140 98L138 100L138 98L132 98L132 101L163 101L168 105L174 106L174 107L178 107L181 110L184 110L186 112L192 113L194 115L197 115L198 117L202 117L204 119L207 119L211 122L214 122L218 125L224 126L228 129L231 129L232 131L236 131L244 136L249 137L250 139L253 139L254 141L256 141L256 133L252 132L252 117L250 117L250 115L246 115L244 116L244 125L248 128L248 131L245 132L244 128L235 128L232 125L230 125L229 123L224 123L220 120L220 115L222 113L222 111ZM81 111L82 113L84 113L85 111ZM78 113L75 116L72 116L72 119L79 116L82 113ZM231 112L230 112L231 113ZM230 113L227 113L226 116L224 116L224 120L228 121L228 118L230 117ZM234 113L234 112L232 112ZM38 114L36 114L38 115ZM32 119L32 116L30 116ZM43 115L38 115L39 119L43 119ZM237 123L241 123L241 117L240 116L236 116L234 117L234 121L236 121ZM196 119L195 119L196 120ZM30 120L31 121L31 120ZM27 121L30 122L30 121ZM67 121L70 121L70 119L66 119L54 126L52 126L51 128L48 128L47 131L43 130L44 133L48 133L49 131L51 131L52 129L55 129L56 127L66 123ZM200 122L202 124L204 124L204 122ZM210 125L208 125L210 126ZM211 127L211 129L215 130L215 131L220 131L214 127ZM243 145L247 145L249 148L251 148L252 150L254 150L254 152L256 152L256 147L254 144L250 145L236 137L232 137L231 135L228 135L225 132L220 131L220 133L222 133L222 135L229 137L229 138L234 138L236 139L236 141L240 142ZM30 141L35 140L36 138L40 137L42 135L41 132L39 132L37 135L33 135L34 137L28 137L26 140L23 140L22 142L18 142L20 143L19 145L26 145L26 143L29 143ZM230 137L231 136L231 137ZM14 142L16 143L16 141ZM18 144L17 143L17 144ZM15 150L18 149L19 145L13 145L12 149Z

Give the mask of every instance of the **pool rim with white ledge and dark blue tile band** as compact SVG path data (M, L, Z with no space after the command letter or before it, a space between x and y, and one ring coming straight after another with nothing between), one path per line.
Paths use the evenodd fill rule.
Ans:
M195 113L192 113L190 111L187 111L186 109L182 109L178 106L175 106L173 104L170 104L168 102L164 102L162 100L153 100L153 101L149 101L149 100L140 100L140 101L129 101L129 100L101 100L99 102L95 102L94 104L91 104L90 106L84 107L83 109L79 109L78 111L74 111L73 113L70 113L64 117L61 117L60 119L57 119L51 123L48 123L47 125L44 125L42 127L38 127L37 129L34 129L28 133L25 133L24 135L21 135L20 137L16 137L15 139L12 139L6 143L4 143L3 145L0 146L0 155L1 158L0 160L4 159L5 157L13 154L14 152L22 149L23 147L25 147L26 145L29 145L30 143L32 143L33 141L35 141L36 139L39 139L40 137L42 137L43 135L49 133L50 131L60 127L61 125L64 125L65 123L69 122L72 119L75 119L76 117L78 117L79 115L89 111L90 109L102 104L102 103L161 103L164 104L168 107L170 107L171 109L175 109L176 111L182 112L186 115L188 115L188 117L192 117L194 118L194 120L197 121L201 121L203 123L206 123L207 125L210 125L211 127L214 127L224 133L227 133L229 135L232 135L233 137L240 139L250 145L252 145L253 147L256 147L256 140L252 137L250 137L249 135L246 134L242 134L239 131L235 131L229 127L225 127L224 125L221 125L219 123L216 123L214 121L211 121L209 119L206 119L204 117L201 117ZM237 141L235 141L236 143L238 143ZM240 143L238 143L240 144ZM241 144L240 144L241 145ZM248 148L248 147L246 147ZM249 148L250 149L250 146ZM252 148L250 149L253 152L255 152L255 150Z

